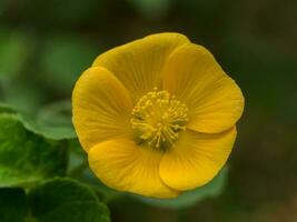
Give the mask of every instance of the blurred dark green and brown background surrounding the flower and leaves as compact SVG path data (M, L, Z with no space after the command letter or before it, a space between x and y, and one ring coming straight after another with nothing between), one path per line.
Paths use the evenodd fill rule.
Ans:
M0 0L0 101L26 113L69 100L99 53L174 31L208 48L246 108L217 198L166 210L125 198L115 222L297 221L297 1Z

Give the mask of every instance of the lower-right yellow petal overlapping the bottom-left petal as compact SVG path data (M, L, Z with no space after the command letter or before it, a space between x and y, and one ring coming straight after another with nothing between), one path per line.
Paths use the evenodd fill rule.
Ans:
M206 184L224 167L235 138L235 128L218 134L186 131L161 160L162 181L181 191Z

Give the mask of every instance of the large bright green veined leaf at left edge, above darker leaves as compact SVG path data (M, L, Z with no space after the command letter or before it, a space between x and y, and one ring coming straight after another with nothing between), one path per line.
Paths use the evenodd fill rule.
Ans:
M18 115L0 113L0 188L27 188L63 175L67 149L23 128Z

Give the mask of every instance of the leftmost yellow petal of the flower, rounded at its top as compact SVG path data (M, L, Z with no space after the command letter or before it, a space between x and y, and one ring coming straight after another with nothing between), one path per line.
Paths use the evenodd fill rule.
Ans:
M76 83L72 121L82 144L92 145L127 134L131 100L125 87L105 68L90 68Z

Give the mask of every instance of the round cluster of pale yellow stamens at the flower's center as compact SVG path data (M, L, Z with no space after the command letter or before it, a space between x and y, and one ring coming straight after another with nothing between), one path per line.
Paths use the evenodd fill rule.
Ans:
M141 142L157 149L174 145L180 130L186 130L188 108L167 91L148 92L132 110L132 129Z

